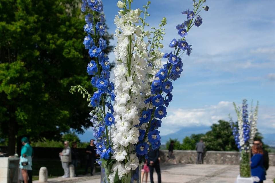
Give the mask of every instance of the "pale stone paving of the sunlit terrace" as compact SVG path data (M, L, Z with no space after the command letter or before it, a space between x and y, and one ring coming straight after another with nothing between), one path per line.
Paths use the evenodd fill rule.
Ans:
M234 183L239 174L237 165L169 165L161 166L162 183ZM264 183L273 183L275 178L275 166L270 166L267 171L267 180ZM64 179L63 179L64 180ZM157 175L154 173L154 182L157 182ZM36 181L34 181L36 182ZM51 182L56 182L52 181ZM60 179L59 179L60 182ZM66 183L100 183L100 176L76 177L67 179ZM148 176L148 183L150 178Z

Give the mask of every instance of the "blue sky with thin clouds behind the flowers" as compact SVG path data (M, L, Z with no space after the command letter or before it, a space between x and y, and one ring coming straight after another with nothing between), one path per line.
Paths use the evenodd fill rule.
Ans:
M193 1L151 2L148 29L167 18L162 51L170 52L170 41L178 39L175 27L185 20L181 12L192 9ZM109 32L113 33L117 1L103 3ZM134 0L132 7L142 9L144 4L144 0ZM251 100L260 103L260 132L264 136L275 134L275 1L207 0L206 5L209 11L200 13L202 25L194 26L186 37L193 50L189 57L182 57L184 70L173 84L173 100L162 120L161 134L211 126L220 119L228 120L229 113L236 119L232 102L241 104L244 98L249 104ZM109 58L113 61L113 53Z

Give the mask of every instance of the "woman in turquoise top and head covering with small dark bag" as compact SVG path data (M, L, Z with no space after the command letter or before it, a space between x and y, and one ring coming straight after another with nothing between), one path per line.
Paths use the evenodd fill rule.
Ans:
M32 170L32 147L27 137L23 137L21 142L22 147L19 168L21 169L24 183L28 183L28 170Z

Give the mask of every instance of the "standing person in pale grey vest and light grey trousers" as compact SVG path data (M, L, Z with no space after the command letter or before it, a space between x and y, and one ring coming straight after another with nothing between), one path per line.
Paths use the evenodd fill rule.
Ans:
M69 163L72 161L72 152L69 147L69 141L64 142L64 149L59 153L64 175L62 178L70 177Z

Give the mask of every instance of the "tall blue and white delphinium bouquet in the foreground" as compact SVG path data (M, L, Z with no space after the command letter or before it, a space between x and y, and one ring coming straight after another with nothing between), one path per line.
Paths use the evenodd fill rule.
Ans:
M157 28L145 31L149 24L145 22L150 16L147 12L150 1L143 6L144 10L131 9L133 0L118 1L120 8L115 16L117 27L114 49L116 67L114 83L110 82L110 66L104 54L106 41L104 34L104 17L97 18L103 10L101 0L82 0L82 11L85 16L84 31L87 36L83 44L89 49L92 61L87 66L87 73L92 75L91 84L97 92L91 96L81 86L71 88L71 92L87 95L91 122L97 138L98 163L105 169L107 182L138 181L139 165L147 158L149 147L160 147L161 119L167 115L166 109L172 100L172 81L180 77L183 71L181 56L190 55L192 48L186 41L188 31L195 25L199 27L203 19L198 13L208 6L206 0L193 0L192 10L185 10L186 20L176 25L178 39L173 39L170 53L162 53L164 26L163 18ZM142 17L141 14L143 13ZM166 59L166 63L162 63Z

